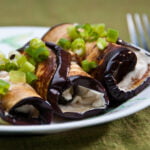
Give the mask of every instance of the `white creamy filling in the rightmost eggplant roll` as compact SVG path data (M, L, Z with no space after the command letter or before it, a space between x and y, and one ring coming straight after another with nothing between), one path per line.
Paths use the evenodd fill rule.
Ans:
M135 66L135 69L131 72L129 72L121 82L117 84L119 89L122 89L123 91L129 91L132 89L135 89L135 81L142 80L144 75L148 71L148 67L150 65L150 57L145 55L144 52L138 51L135 52L137 56L137 64ZM148 74L150 76L150 73Z

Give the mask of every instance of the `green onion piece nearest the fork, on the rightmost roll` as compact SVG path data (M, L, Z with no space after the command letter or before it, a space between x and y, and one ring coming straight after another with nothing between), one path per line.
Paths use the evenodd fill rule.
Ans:
M112 43L116 43L117 39L119 36L119 32L117 30L114 29L108 29L107 31L107 41L108 42L112 42Z

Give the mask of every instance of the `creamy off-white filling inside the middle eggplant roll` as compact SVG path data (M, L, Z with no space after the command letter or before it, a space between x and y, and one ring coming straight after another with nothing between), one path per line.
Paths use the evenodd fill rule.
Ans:
M63 92L63 97L67 100L72 98L70 88ZM88 89L83 86L77 87L77 93L73 100L67 105L59 105L62 112L84 113L95 108L106 108L104 93Z

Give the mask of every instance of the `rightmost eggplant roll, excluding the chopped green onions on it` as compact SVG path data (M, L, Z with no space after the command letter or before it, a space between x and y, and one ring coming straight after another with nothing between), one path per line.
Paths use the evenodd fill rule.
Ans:
M68 36L67 31L68 27L72 26L75 26L75 24L56 25L43 36L42 40L55 43L58 43L62 38L70 40L71 37ZM76 33L81 33L80 37L84 39L84 36L82 36L84 32L82 31L84 29L89 31L89 28L89 26L86 26L86 28L77 27ZM74 33L75 30L72 31ZM103 39L108 39L108 37L103 38L102 36L100 48L105 45ZM72 58L78 64L81 64L81 61L84 59L98 64L96 68L90 70L89 74L103 84L112 103L120 104L137 95L150 84L149 53L120 39L115 42L107 41L108 44L103 50L99 48L96 41L89 42L86 39L84 40L84 56L77 56L77 59L74 59L74 55L72 55Z

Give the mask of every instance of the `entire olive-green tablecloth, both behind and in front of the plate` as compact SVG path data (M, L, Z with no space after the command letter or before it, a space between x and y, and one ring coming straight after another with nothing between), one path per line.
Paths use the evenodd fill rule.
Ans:
M101 23L128 40L126 13L147 13L149 0L0 0L0 26ZM103 125L39 136L0 136L0 149L149 150L150 109Z

